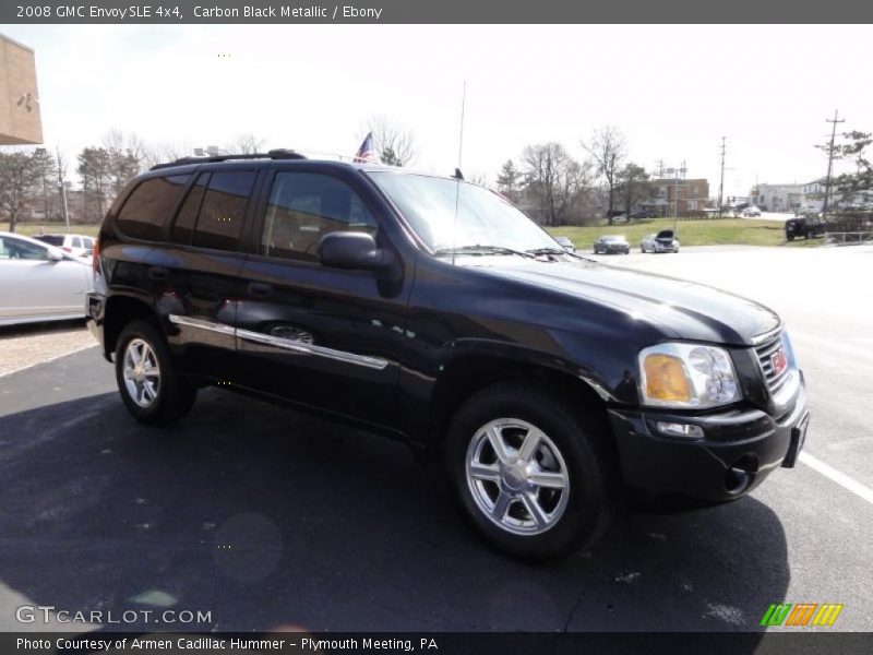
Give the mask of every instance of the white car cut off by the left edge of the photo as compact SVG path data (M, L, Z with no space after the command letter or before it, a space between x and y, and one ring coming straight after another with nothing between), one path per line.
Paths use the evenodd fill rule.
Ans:
M0 231L0 325L82 319L93 279L86 260Z

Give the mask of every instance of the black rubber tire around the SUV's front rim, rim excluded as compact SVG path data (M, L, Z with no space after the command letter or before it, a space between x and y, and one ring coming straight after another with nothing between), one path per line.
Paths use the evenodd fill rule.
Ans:
M539 534L514 534L498 525L479 508L474 483L468 483L470 444L479 442L480 428L499 418L521 419L538 428L557 446L565 464L569 487L561 491L567 495L563 513ZM458 409L446 436L446 466L454 496L478 533L499 550L528 561L570 557L597 541L614 514L617 469L608 454L606 429L603 421L586 412L578 398L564 400L541 384L506 381L488 386ZM500 493L504 481L489 484ZM526 509L513 511L533 520ZM511 513L507 510L506 515Z

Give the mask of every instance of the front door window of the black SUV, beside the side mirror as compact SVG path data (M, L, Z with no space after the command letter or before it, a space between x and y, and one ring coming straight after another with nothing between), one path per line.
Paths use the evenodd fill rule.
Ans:
M318 261L319 239L332 231L376 233L376 222L345 182L315 172L279 172L270 191L261 254Z

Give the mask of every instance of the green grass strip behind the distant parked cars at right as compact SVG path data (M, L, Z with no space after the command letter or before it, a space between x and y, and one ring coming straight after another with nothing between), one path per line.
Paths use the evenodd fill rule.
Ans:
M622 235L631 248L639 248L639 241L646 235L661 229L672 229L672 218L648 218L624 222L614 225L596 225L586 227L549 227L554 236L569 237L576 248L590 250L595 239L603 235ZM677 238L682 246L820 246L824 239L813 239L806 243L800 239L786 242L784 223L780 221L749 221L743 218L709 218L703 221L679 221Z

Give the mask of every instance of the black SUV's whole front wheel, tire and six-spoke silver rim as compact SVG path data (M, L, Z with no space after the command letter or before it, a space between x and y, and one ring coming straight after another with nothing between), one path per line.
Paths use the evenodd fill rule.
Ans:
M465 514L492 545L528 560L591 545L613 511L597 421L533 383L489 386L455 415L450 477Z

